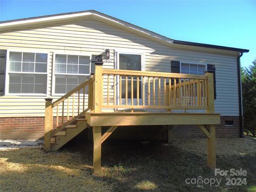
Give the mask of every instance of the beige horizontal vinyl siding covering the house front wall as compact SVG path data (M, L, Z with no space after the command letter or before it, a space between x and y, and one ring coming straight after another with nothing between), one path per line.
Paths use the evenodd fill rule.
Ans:
M49 52L48 96L52 95L53 53L92 55L102 54L105 49L110 49L110 59L104 62L103 67L114 68L115 51L138 51L145 54L146 71L170 72L171 60L212 64L216 67L217 113L239 115L235 54L174 49L96 20L78 20L6 31L0 34L0 42L1 49ZM0 116L44 116L44 98L7 95L0 97Z

